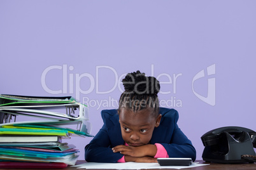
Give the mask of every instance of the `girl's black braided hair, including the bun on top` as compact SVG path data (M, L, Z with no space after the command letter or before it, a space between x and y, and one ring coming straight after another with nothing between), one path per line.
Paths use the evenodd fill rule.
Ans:
M118 112L122 109L138 112L150 109L152 113L159 114L160 91L159 81L155 77L146 76L145 73L131 72L122 79L124 93L120 96Z

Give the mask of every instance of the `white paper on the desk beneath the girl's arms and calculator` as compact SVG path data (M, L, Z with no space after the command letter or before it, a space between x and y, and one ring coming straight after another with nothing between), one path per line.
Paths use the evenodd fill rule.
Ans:
M193 162L190 166L160 166L158 163L136 163L136 162L125 162L125 163L95 163L87 162L72 167L85 168L85 169L183 169L188 167L207 166L209 164L199 164Z

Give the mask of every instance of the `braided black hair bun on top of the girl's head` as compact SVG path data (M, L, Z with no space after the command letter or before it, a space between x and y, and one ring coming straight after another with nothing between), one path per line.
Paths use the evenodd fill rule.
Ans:
M160 91L159 81L155 77L147 77L145 73L131 72L122 80L124 89L127 92L134 92L138 95L157 95Z

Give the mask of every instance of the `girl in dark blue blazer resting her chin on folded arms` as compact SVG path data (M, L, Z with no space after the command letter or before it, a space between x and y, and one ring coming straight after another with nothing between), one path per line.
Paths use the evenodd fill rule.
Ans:
M87 162L157 162L158 157L190 157L196 150L178 125L178 112L160 108L155 77L139 71L122 80L118 110L103 110L103 128L85 147Z

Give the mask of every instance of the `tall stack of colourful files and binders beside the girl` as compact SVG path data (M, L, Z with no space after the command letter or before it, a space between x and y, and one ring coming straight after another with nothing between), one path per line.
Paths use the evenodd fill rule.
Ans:
M17 121L19 117L35 121ZM0 95L0 167L74 165L79 150L62 139L92 136L88 120L88 108L71 96ZM76 129L66 127L73 124Z

